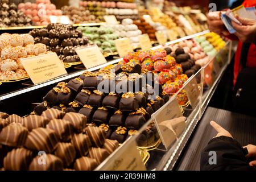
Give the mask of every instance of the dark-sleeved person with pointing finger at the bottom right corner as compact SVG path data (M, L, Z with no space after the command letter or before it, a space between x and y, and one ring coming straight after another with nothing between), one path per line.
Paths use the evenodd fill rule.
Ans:
M216 122L211 121L210 125L218 134L201 152L200 170L256 171L256 146L249 144L242 147L228 131Z

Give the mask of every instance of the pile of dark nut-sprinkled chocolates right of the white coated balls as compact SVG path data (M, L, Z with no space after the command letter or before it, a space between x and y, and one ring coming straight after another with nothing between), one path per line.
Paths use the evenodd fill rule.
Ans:
M75 49L89 44L89 40L82 36L81 31L75 30L72 25L60 23L34 29L30 31L30 35L35 38L35 43L46 44L48 51L56 52L64 63L79 62L80 58Z

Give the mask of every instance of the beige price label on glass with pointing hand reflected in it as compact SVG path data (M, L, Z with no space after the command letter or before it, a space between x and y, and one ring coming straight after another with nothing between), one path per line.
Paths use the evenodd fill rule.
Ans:
M152 115L155 120L156 128L160 138L166 147L170 148L171 144L176 140L176 133L172 127L172 122L170 120L184 117L181 113L179 104L176 99L173 99L164 105L160 110Z

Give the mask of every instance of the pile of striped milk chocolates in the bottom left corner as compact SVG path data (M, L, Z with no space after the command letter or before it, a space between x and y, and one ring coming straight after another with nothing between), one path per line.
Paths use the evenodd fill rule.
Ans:
M39 115L0 113L0 169L90 171L118 148L104 129L79 113L48 109Z

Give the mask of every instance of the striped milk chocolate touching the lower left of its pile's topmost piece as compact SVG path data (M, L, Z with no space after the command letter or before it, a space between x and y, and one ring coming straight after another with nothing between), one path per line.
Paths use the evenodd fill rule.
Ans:
M28 115L28 117L23 119L23 126L31 131L37 129L38 127L46 127L49 123L49 119L39 115Z

